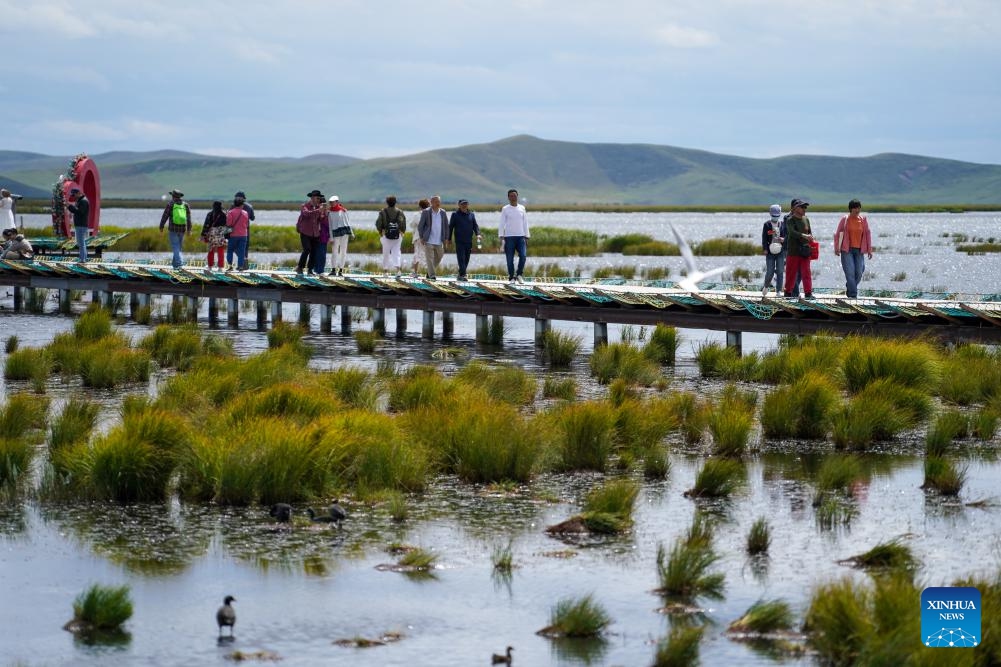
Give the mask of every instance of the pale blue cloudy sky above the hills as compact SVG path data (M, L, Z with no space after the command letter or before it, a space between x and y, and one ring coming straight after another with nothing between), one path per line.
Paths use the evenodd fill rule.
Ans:
M0 148L1001 163L998 0L0 0Z

